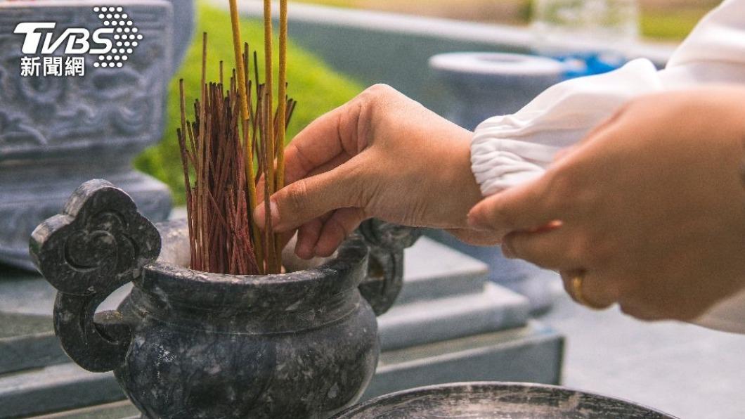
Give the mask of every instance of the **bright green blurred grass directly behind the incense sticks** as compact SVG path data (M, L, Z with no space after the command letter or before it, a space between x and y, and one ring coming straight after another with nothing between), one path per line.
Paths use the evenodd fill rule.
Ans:
M234 59L232 50L232 32L229 14L223 10L204 4L199 7L199 22L194 42L188 49L181 69L171 81L168 92L168 120L165 135L158 145L148 148L135 162L136 168L151 174L166 183L174 193L176 204L185 201L183 170L176 139L176 128L180 126L178 81L184 79L188 110L192 109L194 98L199 93L201 78L202 36L208 33L208 70L209 81L219 79L220 60L227 69L232 69ZM241 35L249 42L251 48L259 51L263 57L263 28L259 22L244 20L241 22ZM276 43L276 42L275 42ZM261 47L261 48L258 48ZM276 54L275 54L276 57ZM293 120L289 127L288 138L292 138L302 127L313 119L353 98L362 87L349 78L334 72L321 60L290 42L288 46L288 93L298 101ZM227 77L227 75L226 75ZM187 110L187 112L188 112ZM188 112L188 115L191 113Z

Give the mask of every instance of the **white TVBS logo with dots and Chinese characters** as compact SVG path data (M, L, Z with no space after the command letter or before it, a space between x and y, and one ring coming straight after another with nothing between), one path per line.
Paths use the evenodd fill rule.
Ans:
M65 28L59 37L57 22L21 22L14 34L24 36L22 77L83 76L86 55L96 56L94 67L122 67L142 41L123 7L93 7L101 28ZM64 60L63 60L64 59ZM64 65L64 66L63 66Z

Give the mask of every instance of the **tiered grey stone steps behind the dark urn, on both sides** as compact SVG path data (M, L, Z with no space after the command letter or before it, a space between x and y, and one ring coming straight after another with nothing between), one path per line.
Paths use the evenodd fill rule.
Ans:
M562 338L530 320L525 297L489 283L483 262L427 238L405 260L400 298L379 318L382 353L363 400L444 382L559 382ZM53 303L42 278L0 266L0 418L136 415L112 374L83 371L60 350Z

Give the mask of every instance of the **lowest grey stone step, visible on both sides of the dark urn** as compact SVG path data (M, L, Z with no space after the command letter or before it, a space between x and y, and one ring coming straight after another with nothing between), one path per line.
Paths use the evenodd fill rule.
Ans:
M421 385L469 380L558 384L562 348L557 333L531 322L514 330L384 352L361 400ZM69 419L137 415L137 409L123 399L113 374L89 373L70 363L0 378L4 408L0 418L48 412Z

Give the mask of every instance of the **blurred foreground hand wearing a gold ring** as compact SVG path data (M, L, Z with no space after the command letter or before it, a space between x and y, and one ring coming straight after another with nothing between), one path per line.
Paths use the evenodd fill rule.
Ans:
M469 218L575 297L583 275L585 303L693 320L745 287L744 109L734 87L640 98Z

